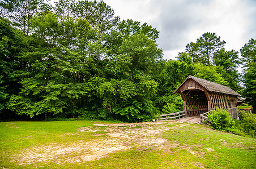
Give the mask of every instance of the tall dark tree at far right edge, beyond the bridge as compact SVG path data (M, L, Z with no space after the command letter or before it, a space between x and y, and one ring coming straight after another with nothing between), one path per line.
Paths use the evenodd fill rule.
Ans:
M256 40L250 39L240 51L245 63L243 96L249 104L253 105L253 112L256 113Z

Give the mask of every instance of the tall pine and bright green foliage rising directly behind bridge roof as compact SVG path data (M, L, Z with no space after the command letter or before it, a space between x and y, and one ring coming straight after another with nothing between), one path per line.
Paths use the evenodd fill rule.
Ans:
M241 61L237 51L225 51L225 43L215 33L204 33L197 42L187 44L186 53L180 53L177 59L187 63L192 59L195 77L229 86L238 92L241 74L237 69Z

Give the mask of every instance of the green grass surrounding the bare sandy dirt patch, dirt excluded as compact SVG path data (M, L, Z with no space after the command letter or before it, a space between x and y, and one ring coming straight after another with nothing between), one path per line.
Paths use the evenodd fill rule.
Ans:
M1 122L0 168L255 168L256 139L211 130L199 124L162 124L169 131L164 149L134 145L130 150L110 153L96 161L57 164L38 162L20 166L12 162L13 153L23 153L35 145L71 144L76 141L107 139L104 131L78 132L93 126L92 121ZM161 128L161 126L157 126ZM141 126L133 127L140 129ZM77 154L70 154L72 155Z

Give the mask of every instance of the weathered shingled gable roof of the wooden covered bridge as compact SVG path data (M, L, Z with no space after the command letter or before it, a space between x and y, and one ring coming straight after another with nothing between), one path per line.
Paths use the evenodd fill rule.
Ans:
M181 83L181 85L173 93L176 93L178 91L178 89L182 86L182 84L184 84L187 81L187 79L193 79L195 82L199 83L201 86L206 88L206 90L208 90L208 91L241 96L240 94L238 94L237 92L235 92L231 88L229 88L228 86L223 86L223 85L218 84L218 83L206 81L204 79L200 79L200 78L194 77L192 75L189 75L189 77L187 77L185 79L185 81L183 83Z

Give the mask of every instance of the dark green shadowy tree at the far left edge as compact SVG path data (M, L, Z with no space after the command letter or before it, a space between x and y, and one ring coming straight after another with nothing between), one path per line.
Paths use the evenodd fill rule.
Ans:
M15 72L23 68L20 55L26 43L20 30L11 26L7 19L0 19L0 110L7 111L11 95L18 94L20 77Z

